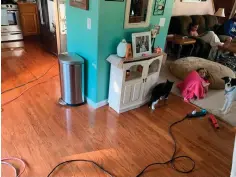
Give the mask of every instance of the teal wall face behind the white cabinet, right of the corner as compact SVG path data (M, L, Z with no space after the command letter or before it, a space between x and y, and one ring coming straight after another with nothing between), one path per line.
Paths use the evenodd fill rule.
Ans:
M153 1L153 9L154 9ZM124 2L112 2L100 0L99 4L99 43L98 43L98 82L97 87L99 93L97 95L97 101L102 101L108 97L109 88L109 72L110 65L106 61L106 58L113 53L116 53L116 47L119 42L125 38L131 42L131 34L135 32L148 31L149 28L138 29L124 29L125 19L125 7ZM166 18L165 26L161 27L160 34L156 38L155 46L160 46L164 49L166 35L172 15L173 0L167 0L165 12L160 16L151 16L151 24L159 24L160 18ZM152 13L153 13L152 9Z

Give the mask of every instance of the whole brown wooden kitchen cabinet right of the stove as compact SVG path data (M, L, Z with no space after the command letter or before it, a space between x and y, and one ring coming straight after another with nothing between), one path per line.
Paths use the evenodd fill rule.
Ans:
M18 3L20 22L24 36L39 34L39 20L36 3Z

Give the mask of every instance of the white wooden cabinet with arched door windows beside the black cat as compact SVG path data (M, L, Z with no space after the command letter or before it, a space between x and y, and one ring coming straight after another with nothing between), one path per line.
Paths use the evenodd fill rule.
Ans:
M129 61L110 55L109 106L122 113L144 105L150 100L158 82L163 55L151 54Z

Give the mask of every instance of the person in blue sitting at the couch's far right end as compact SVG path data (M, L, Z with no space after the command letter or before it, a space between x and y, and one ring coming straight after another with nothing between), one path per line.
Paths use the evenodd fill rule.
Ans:
M233 42L236 42L236 14L233 18L227 20L221 27L220 31L223 31L223 35L219 35L221 41L226 41L231 37ZM222 33L222 32L221 32Z

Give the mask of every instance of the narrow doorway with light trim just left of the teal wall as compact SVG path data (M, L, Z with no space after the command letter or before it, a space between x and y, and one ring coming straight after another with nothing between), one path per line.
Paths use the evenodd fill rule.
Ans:
M57 55L67 51L65 0L38 0L40 38L49 52Z

